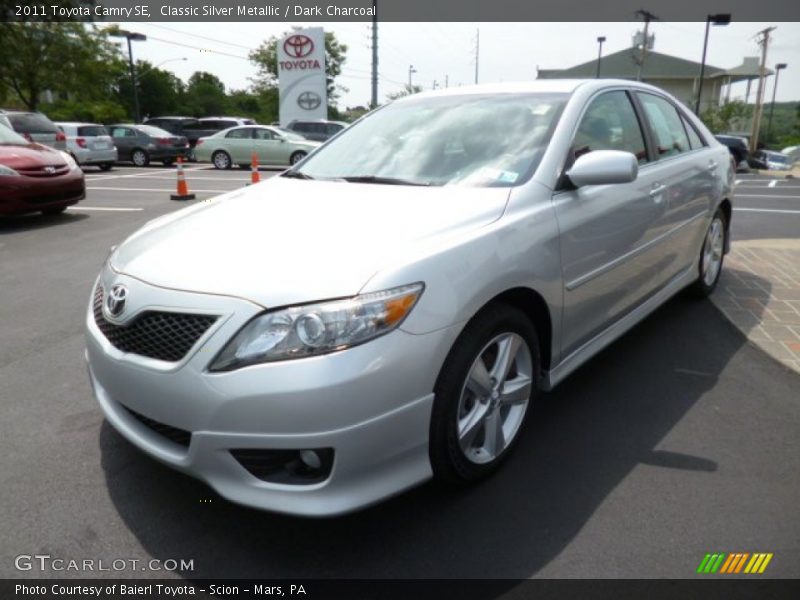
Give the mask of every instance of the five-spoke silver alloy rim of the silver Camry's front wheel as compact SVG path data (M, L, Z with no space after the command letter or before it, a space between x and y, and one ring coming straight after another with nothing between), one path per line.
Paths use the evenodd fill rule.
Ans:
M533 361L516 333L502 333L480 351L461 388L456 435L470 462L495 460L516 437L533 391Z

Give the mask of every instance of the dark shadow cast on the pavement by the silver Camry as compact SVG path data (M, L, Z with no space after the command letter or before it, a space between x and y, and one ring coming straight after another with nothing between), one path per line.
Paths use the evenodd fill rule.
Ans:
M658 446L745 343L710 302L679 295L545 394L495 476L464 489L427 483L339 518L230 504L107 423L102 466L145 551L193 559L187 578L527 578L638 465L715 476L709 457Z

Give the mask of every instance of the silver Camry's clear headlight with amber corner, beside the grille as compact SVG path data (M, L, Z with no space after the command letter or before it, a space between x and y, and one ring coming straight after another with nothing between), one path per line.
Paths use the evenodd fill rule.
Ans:
M255 317L223 348L212 371L326 354L363 344L403 322L422 294L414 283L345 300L292 306Z

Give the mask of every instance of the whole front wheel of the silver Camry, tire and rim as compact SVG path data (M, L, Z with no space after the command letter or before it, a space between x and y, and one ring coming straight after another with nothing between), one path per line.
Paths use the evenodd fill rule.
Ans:
M536 330L522 311L493 306L467 325L434 388L429 453L437 479L471 483L500 466L519 439L538 373Z

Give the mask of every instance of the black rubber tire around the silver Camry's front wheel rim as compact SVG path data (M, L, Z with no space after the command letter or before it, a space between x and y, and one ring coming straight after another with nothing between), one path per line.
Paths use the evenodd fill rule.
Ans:
M511 432L510 440L506 441L505 447L496 456L487 455L487 460L478 463L475 458L480 454L481 449L469 448L469 452L467 452L462 449L461 442L459 442L459 414L464 408L462 399L466 397L465 395L471 394L467 382L477 361L481 360L491 370L491 367L488 367L485 360L481 358L490 352L487 348L492 348L487 344L508 334L518 336L526 344L530 359L528 363L531 380L530 396L525 404L520 406L521 416L519 413L515 414L516 424L514 426L516 428ZM489 306L467 324L450 350L434 387L435 398L431 414L429 456L434 477L437 480L457 485L469 484L483 479L498 469L518 442L529 407L536 399L539 384L539 356L536 329L525 313L517 308L504 304ZM511 373L516 373L515 377L523 375L521 370L517 372L516 364L509 371L509 374ZM494 381L492 380L493 385L495 385ZM488 398L485 402L473 399L470 412L475 411L476 407L488 407L491 402L492 400ZM513 408L514 406L506 407L509 411ZM496 410L500 413L503 410L502 405ZM490 414L490 411L487 413ZM507 415L510 418L510 412ZM485 429L482 443L486 444L488 427L485 425L483 427ZM476 436L474 439L480 438ZM473 458L468 458L468 453Z

